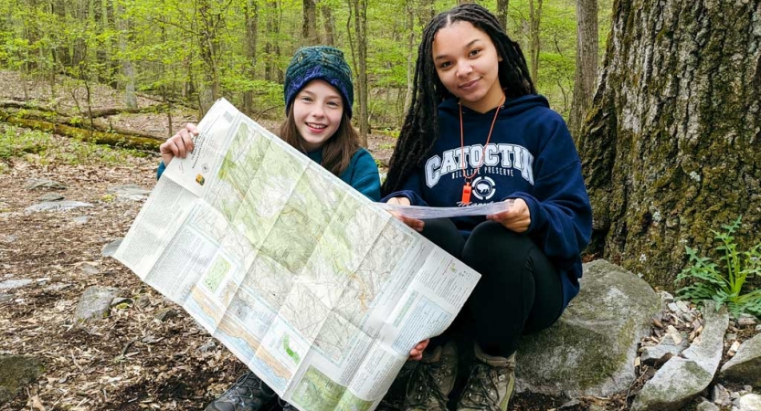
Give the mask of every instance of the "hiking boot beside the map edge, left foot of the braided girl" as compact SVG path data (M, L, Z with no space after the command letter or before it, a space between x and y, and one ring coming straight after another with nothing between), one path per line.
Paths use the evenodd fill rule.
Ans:
M424 352L410 374L402 411L446 411L447 395L457 377L457 361L454 342Z

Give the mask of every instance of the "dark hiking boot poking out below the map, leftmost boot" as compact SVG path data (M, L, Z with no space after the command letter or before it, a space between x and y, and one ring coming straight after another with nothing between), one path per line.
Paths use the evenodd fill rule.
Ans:
M275 398L275 392L249 371L206 406L206 411L262 411Z

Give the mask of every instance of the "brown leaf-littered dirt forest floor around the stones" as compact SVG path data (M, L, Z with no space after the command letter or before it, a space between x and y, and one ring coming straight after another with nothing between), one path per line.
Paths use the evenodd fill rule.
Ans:
M0 72L0 100L23 100L23 83L14 73ZM26 83L29 99L50 102L44 83ZM72 94L69 90L69 94ZM121 107L119 93L95 88L98 108ZM58 92L58 106L74 104ZM143 98L141 104L154 104ZM174 124L194 120L193 111L177 111ZM124 128L165 135L165 119L155 114L111 119ZM270 129L275 122L266 123ZM0 133L7 127L0 123ZM387 163L395 140L373 133L369 149ZM54 136L52 146L67 147L68 138ZM180 307L143 284L129 269L101 250L124 237L142 201L122 200L110 189L155 184L155 153L120 154L105 162L106 152L90 148L79 161L40 151L0 157L0 282L32 279L16 290L0 290L0 353L37 357L44 372L4 410L142 410L203 409L242 374L246 367L196 324ZM81 147L79 148L81 151ZM79 152L77 152L79 153ZM66 189L27 189L27 182L48 178ZM41 195L55 193L91 206L70 211L26 213ZM84 221L83 217L87 217ZM73 314L90 286L122 290L125 304L111 315L76 326ZM3 298L3 295L6 297ZM164 321L157 314L171 310ZM632 393L647 379L643 373ZM514 410L551 410L565 399L517 395ZM626 409L626 395L583 398L566 410Z

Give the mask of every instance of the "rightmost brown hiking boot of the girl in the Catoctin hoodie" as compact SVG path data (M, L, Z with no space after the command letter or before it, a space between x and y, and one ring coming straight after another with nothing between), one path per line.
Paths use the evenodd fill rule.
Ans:
M515 353L508 358L495 357L476 344L476 358L457 410L507 411L514 388Z

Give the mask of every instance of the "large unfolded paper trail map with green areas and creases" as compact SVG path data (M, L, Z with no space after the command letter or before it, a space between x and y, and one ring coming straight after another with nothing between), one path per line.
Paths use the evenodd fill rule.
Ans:
M372 410L478 273L219 100L115 258L304 411Z

